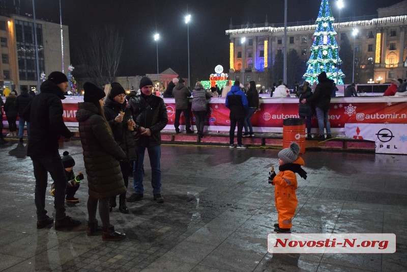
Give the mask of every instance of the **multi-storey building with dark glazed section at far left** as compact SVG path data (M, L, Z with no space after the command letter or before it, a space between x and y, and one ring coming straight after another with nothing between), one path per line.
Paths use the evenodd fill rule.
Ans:
M71 64L69 53L68 26L63 25L62 55L61 24L36 20L37 50L39 74L46 75L52 71L62 71L64 56L64 72L68 74ZM0 16L0 87L14 88L20 92L21 87L28 90L37 89L37 60L35 44L34 19L32 17L11 15Z

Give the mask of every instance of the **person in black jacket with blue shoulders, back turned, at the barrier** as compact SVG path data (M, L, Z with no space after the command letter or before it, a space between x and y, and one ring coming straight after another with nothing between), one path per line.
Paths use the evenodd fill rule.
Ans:
M230 110L230 130L229 130L229 148L234 148L235 144L235 129L236 123L238 123L238 146L239 149L246 148L242 144L242 131L244 125L244 119L246 111L249 108L249 102L247 101L246 94L240 89L239 80L235 80L235 83L230 88L230 91L226 95L225 100L226 107Z

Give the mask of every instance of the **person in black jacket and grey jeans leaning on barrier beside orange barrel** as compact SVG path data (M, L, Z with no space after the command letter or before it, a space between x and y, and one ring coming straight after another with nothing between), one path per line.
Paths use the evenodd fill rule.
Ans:
M324 123L327 126L327 139L331 139L331 124L329 123L328 114L329 106L331 104L331 94L334 89L334 80L327 77L327 73L324 71L318 75L318 84L315 87L312 96L307 99L302 99L301 103L313 102L315 104L316 118L318 119L319 134L316 135L316 139L324 140Z

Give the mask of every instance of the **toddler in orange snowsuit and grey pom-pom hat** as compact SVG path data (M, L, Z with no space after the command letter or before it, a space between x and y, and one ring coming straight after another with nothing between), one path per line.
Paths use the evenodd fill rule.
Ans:
M270 172L269 183L274 185L274 198L278 212L278 223L274 224L277 233L291 233L292 220L297 209L297 176L307 179L307 172L301 166L304 160L298 156L300 146L293 142L288 148L278 152L280 172L276 174L274 167Z

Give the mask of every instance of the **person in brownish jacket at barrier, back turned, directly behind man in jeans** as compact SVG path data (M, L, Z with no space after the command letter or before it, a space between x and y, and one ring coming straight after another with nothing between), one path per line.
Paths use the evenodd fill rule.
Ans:
M186 133L193 133L191 130L191 120L189 118L191 108L189 106L188 97L191 97L191 92L185 87L185 80L180 79L178 84L172 89L172 95L175 98L175 132L180 133L180 117L181 113L184 113L185 117L185 130Z

